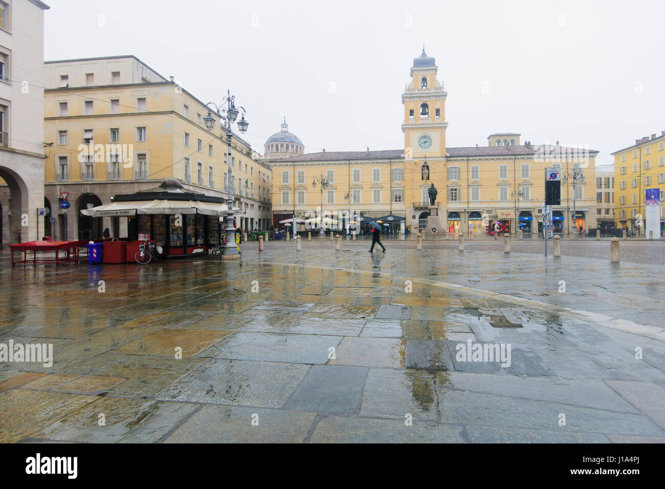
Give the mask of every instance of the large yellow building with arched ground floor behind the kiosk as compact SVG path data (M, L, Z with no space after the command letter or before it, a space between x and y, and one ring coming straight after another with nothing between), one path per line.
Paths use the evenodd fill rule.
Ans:
M135 57L45 63L45 140L53 142L45 164L46 205L56 218L46 234L58 239L127 236L125 218L86 218L80 210L108 204L116 194L158 186L166 178L209 196L227 196L227 142L215 117L173 79ZM215 115L215 114L213 114ZM220 136L222 136L220 138ZM265 229L272 175L249 143L234 134L231 146L234 206L246 213L240 227ZM70 210L59 209L68 192ZM68 218L68 219L66 219ZM65 225L66 223L66 225Z

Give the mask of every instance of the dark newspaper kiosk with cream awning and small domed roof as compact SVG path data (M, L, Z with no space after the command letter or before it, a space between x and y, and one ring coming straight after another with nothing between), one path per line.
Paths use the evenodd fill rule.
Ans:
M164 257L198 255L220 245L227 214L223 198L206 196L168 178L157 188L116 195L111 204L82 210L92 217L127 219L127 239L150 241ZM236 210L237 213L241 212Z

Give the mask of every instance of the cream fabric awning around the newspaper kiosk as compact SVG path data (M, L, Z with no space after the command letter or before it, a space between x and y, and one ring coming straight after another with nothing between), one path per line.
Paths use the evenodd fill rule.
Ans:
M90 209L82 209L81 214L92 218L115 216L136 216L137 214L203 214L204 216L226 216L229 208L217 202L198 200L137 200L112 202ZM231 209L233 214L244 214L244 210Z

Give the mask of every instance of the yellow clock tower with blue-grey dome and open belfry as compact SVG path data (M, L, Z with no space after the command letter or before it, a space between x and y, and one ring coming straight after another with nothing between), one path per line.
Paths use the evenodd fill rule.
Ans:
M404 166L407 188L413 202L407 218L412 232L428 214L427 189L432 184L438 190L437 202L446 206L446 96L444 85L436 79L436 60L426 55L425 47L411 67L411 82L402 94L404 104ZM418 205L420 203L420 205ZM426 205L425 205L426 204ZM444 210L440 208L440 210ZM415 218L413 216L416 216ZM411 218L411 219L409 219Z

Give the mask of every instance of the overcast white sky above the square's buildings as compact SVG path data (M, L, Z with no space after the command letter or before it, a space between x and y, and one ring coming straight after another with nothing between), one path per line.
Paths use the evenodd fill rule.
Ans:
M520 132L606 164L665 130L662 1L47 3L45 59L131 54L203 102L230 88L261 153L283 116L307 152L403 148L423 43L448 91L448 146Z

